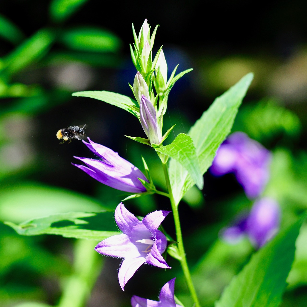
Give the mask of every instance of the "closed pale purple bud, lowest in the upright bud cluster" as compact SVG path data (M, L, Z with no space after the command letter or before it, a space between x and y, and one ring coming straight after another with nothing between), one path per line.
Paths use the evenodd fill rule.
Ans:
M140 101L140 122L144 132L149 138L149 142L151 144L159 144L162 139L162 133L157 122L156 110L144 95L142 95Z

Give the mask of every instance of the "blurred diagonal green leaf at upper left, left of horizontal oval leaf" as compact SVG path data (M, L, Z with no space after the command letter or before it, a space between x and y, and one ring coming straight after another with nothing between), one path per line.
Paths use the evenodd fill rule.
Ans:
M54 38L55 34L51 30L41 29L37 31L4 58L6 73L9 75L15 74L40 59L49 50Z

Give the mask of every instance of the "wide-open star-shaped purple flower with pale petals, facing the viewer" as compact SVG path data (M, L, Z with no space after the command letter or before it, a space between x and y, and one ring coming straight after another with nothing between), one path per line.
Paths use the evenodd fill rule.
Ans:
M161 255L166 249L166 237L158 230L169 212L154 211L140 221L122 203L116 207L115 221L123 233L101 241L95 251L102 255L125 258L118 272L122 290L143 263L170 269Z

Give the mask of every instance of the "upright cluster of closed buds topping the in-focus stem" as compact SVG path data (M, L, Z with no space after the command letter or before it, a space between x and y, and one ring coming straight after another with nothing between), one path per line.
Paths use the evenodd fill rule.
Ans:
M134 48L130 45L130 50L132 61L138 70L134 78L132 90L140 107L139 120L148 139L130 138L156 147L162 144L173 129L171 127L162 136L163 115L166 112L168 98L166 93L175 83L174 75L177 67L173 70L169 80L167 80L167 64L162 47L158 50L154 60L152 60L152 48L157 26L151 36L150 26L146 19L138 36L133 25L132 28ZM183 76L188 71L181 73L181 75Z

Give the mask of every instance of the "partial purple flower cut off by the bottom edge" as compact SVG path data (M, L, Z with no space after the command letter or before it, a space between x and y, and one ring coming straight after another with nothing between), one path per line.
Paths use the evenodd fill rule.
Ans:
M174 299L175 279L176 278L171 279L162 287L159 294L159 301L147 300L146 298L134 295L131 298L131 306L132 307L181 307L181 305L175 303Z

